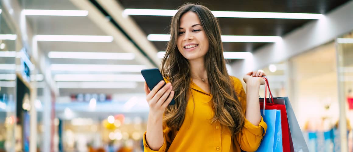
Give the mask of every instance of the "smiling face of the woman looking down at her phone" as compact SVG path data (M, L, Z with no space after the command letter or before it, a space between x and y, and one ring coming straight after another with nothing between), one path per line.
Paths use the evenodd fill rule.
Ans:
M196 13L186 12L180 18L178 50L187 60L204 59L209 42Z

